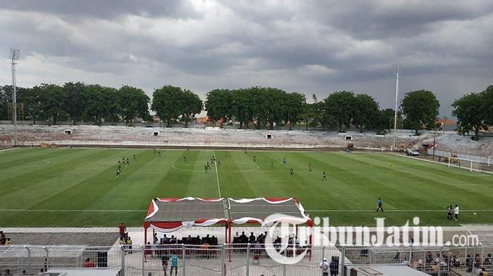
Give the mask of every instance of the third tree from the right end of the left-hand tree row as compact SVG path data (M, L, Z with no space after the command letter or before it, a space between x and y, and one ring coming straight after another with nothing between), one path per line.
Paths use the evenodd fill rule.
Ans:
M65 111L72 119L72 124L77 124L87 109L87 96L85 84L82 82L68 82L63 85L65 98Z

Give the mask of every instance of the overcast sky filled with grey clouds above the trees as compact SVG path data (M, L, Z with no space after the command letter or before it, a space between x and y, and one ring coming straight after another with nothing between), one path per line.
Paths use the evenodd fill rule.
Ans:
M51 0L0 2L0 84L20 48L18 85L275 86L311 94L401 92L451 102L493 84L491 0ZM1 51L4 49L4 51Z

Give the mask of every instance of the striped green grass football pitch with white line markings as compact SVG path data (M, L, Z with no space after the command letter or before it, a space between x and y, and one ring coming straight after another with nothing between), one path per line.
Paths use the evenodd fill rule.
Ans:
M76 148L0 152L0 226L110 227L120 221L139 226L154 197L219 197L219 193L233 198L297 197L312 218L328 216L331 225L372 226L375 217L385 217L387 225L403 225L414 216L420 217L421 225L493 223L493 176L486 173L371 153L161 150L161 154ZM213 155L222 166L217 173L214 166L204 173L204 164ZM130 166L123 166L116 178L116 164L123 156L129 157ZM289 176L290 168L294 176ZM327 181L322 181L323 170ZM375 213L378 197L384 201L384 213ZM461 219L447 221L444 210L456 203Z

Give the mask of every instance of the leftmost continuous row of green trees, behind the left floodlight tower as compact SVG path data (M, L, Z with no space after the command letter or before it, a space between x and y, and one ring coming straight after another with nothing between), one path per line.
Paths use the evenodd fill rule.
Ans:
M11 86L0 86L0 119L8 119L8 103L11 103ZM8 91L8 92L7 92ZM122 86L120 89L68 82L63 86L40 84L32 88L18 88L17 102L23 105L19 112L34 123L39 120L57 121L70 119L73 124L92 121L101 124L124 120L130 124L140 117L151 120L149 97L140 88Z

